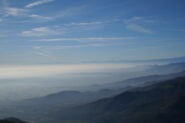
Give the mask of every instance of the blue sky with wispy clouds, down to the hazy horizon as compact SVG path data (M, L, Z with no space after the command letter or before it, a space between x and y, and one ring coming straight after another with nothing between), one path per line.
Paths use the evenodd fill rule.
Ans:
M0 64L185 55L184 0L0 0Z

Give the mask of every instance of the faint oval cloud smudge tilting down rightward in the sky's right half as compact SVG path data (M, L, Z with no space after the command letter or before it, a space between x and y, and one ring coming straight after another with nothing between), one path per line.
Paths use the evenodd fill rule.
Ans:
M132 30L132 31L135 31L135 32L142 32L142 33L148 33L148 34L151 34L152 31L148 30L148 29L145 29L144 27L138 25L138 24L134 24L134 23L129 23L127 25L127 28L129 30Z

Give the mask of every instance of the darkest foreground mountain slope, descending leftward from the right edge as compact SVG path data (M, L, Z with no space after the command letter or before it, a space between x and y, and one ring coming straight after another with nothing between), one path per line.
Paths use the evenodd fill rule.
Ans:
M50 114L55 123L184 123L185 77ZM46 121L39 121L46 122Z

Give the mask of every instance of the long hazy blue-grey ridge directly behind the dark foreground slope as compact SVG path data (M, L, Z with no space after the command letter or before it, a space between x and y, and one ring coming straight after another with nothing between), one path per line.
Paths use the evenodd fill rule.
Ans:
M154 83L159 83L162 80L168 80L181 76L185 76L185 72L168 75L151 75L137 77L104 85L102 87L104 89L101 89L99 91L61 91L44 97L33 98L13 103L8 106L8 109L6 109L7 114L3 116L20 117L28 121L39 118L46 119L46 114L49 114L50 112L55 112L58 109L87 104L102 98L118 95L133 88L151 85Z

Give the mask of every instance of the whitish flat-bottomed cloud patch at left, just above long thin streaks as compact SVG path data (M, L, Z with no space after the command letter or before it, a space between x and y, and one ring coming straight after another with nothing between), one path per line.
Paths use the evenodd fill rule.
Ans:
M47 36L47 35L57 35L59 34L59 32L49 28L49 27L37 27L37 28L33 28L31 30L28 31L23 31L22 35L23 36Z

